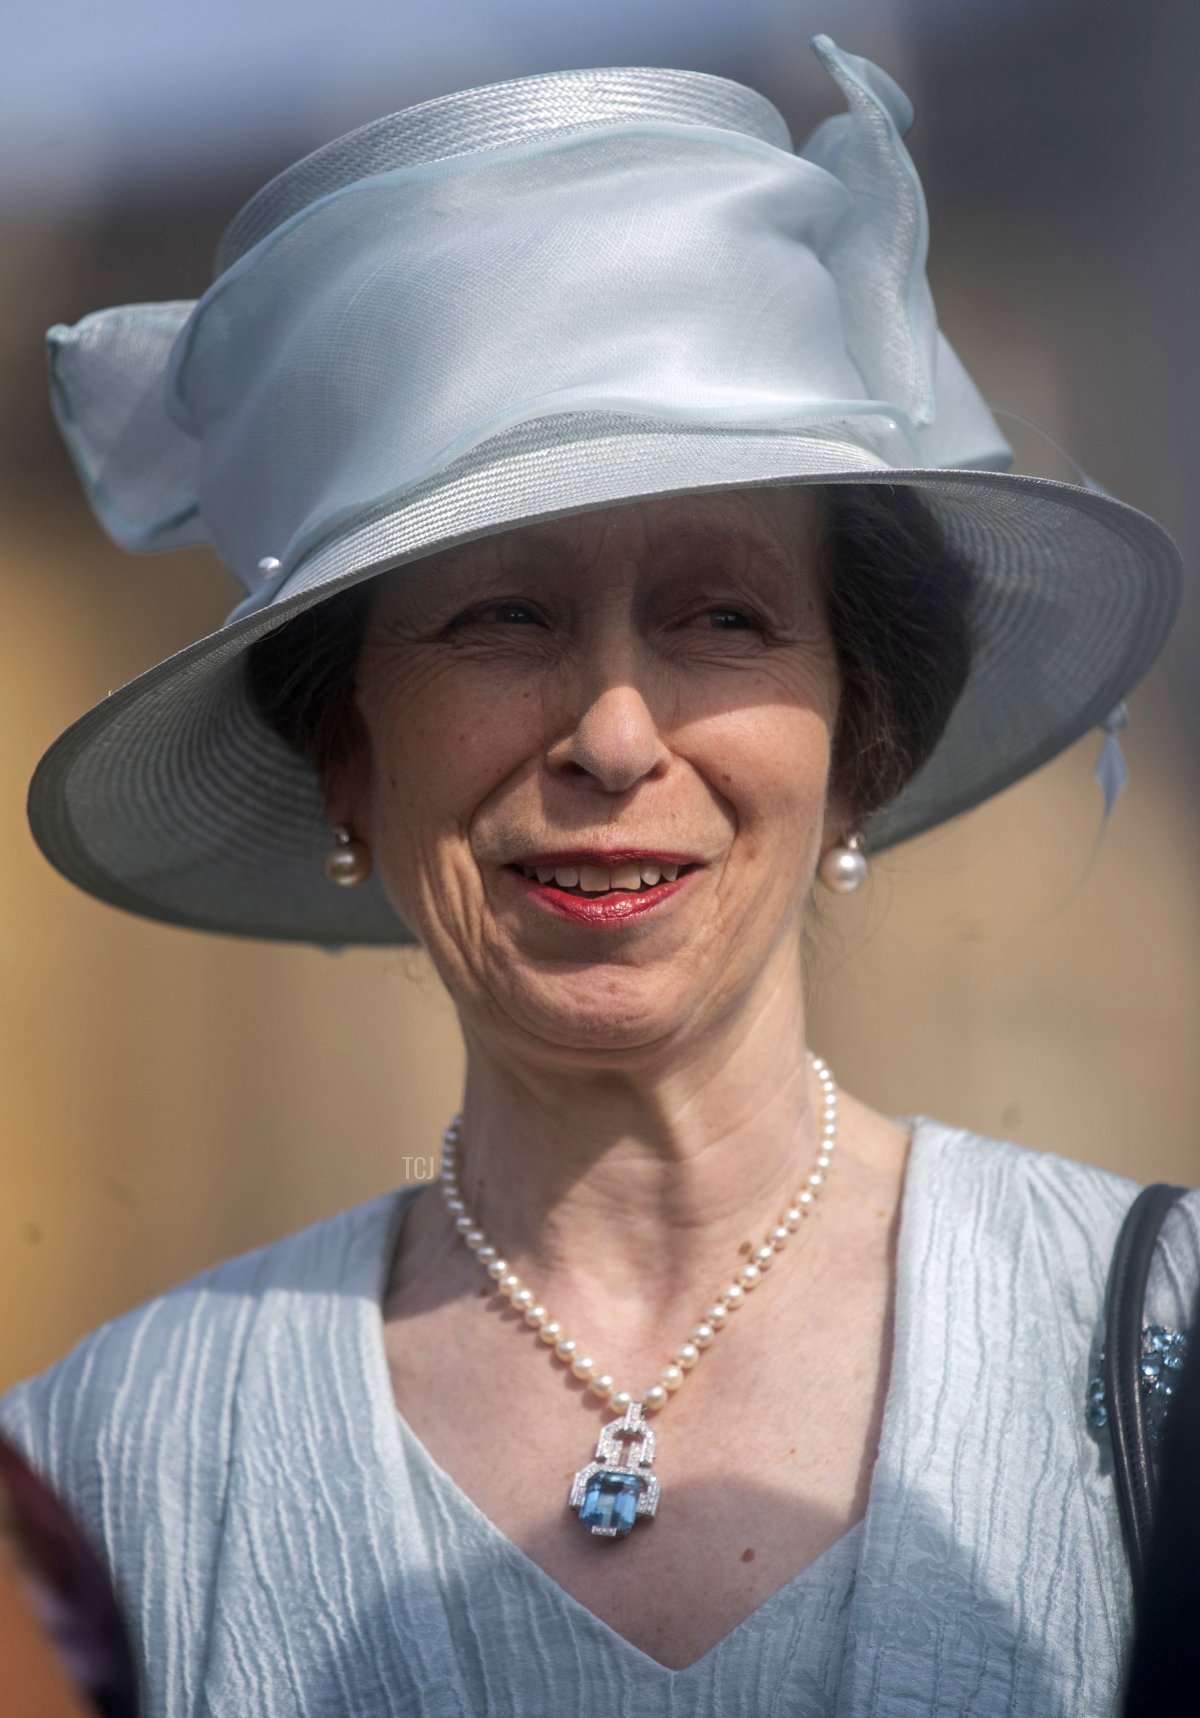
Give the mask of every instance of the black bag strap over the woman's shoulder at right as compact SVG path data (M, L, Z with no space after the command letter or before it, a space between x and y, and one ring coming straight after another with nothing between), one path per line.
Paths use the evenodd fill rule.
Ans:
M1142 1395L1142 1314L1159 1230L1183 1191L1166 1182L1142 1189L1121 1223L1105 1292L1104 1400L1135 1601L1142 1593L1154 1520L1150 1441Z

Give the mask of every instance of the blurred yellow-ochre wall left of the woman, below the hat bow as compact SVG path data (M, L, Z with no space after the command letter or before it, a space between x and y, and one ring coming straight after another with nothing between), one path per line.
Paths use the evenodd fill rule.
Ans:
M0 1386L222 1254L404 1179L457 1091L413 957L141 923L53 873L24 825L48 739L217 625L205 553L136 560L86 510L0 529ZM414 1144L407 1144L413 1141Z

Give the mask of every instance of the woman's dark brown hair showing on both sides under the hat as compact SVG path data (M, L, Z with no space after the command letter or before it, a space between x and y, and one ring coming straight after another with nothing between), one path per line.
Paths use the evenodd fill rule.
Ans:
M829 484L822 577L841 673L830 792L854 823L937 746L971 667L971 570L913 490ZM246 655L254 706L318 777L358 732L354 670L373 581L330 596Z

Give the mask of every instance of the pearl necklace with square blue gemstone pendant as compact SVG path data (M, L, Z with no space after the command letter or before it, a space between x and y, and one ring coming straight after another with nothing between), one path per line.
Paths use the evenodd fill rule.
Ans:
M617 1419L610 1421L600 1433L595 1459L574 1476L567 1496L567 1507L578 1510L585 1527L600 1538L622 1538L640 1515L657 1512L660 1486L652 1472L657 1440L646 1424L646 1414L657 1412L679 1390L700 1356L726 1328L729 1314L736 1313L744 1304L746 1295L763 1280L775 1254L787 1246L825 1185L825 1172L834 1160L834 1146L837 1144L837 1086L820 1057L810 1053L810 1062L823 1096L820 1149L811 1173L793 1194L791 1204L775 1227L768 1230L763 1244L755 1249L750 1264L744 1264L736 1271L732 1282L726 1283L689 1338L679 1343L658 1378L638 1397L629 1390L619 1390L612 1373L605 1373L579 1342L564 1331L557 1318L552 1318L548 1309L536 1301L533 1290L526 1288L516 1271L509 1270L509 1261L500 1258L483 1227L468 1211L459 1189L462 1117L456 1115L442 1136L442 1194L456 1230L487 1270L499 1294L524 1316L526 1325L554 1350L554 1357L569 1366L572 1376L617 1414Z

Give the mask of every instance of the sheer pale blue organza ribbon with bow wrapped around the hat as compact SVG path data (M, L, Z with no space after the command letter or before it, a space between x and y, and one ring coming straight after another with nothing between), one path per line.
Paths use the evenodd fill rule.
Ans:
M695 88L653 120L583 110L351 179L198 304L52 330L55 411L108 533L210 541L251 600L270 557L275 594L351 517L579 411L836 424L870 464L1007 469L937 332L908 100L829 38L815 50L849 110L799 155L710 124Z

